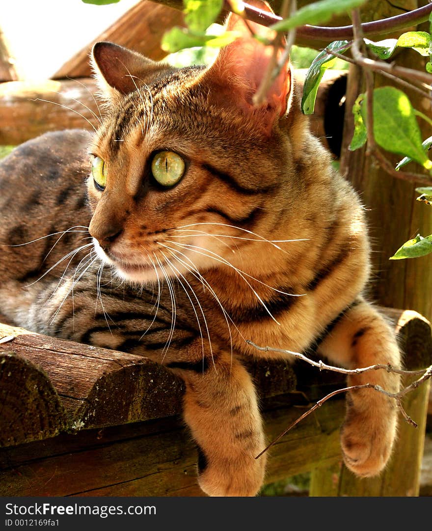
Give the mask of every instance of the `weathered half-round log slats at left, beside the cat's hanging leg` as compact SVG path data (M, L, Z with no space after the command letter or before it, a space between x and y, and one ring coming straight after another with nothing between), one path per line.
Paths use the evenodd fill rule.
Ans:
M62 429L66 430L142 421L172 415L181 409L183 383L148 358L0 325L0 337L7 336L16 337L2 344L4 352L9 353L3 358L3 372L13 374L17 359L24 358L31 367L29 372L40 378L39 385L28 390L31 396L22 405L18 398L15 400L13 416L6 409L0 416L4 444L43 437L36 417L33 426L30 417L25 431L19 429L14 419L26 415L27 402L39 404L48 388L64 409ZM19 382L14 390L17 397L21 391ZM45 437L52 435L47 426Z

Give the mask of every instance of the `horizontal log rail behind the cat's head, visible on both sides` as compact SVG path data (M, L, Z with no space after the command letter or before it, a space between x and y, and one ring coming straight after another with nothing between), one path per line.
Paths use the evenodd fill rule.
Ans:
M305 73L306 70L296 71L299 91L303 91ZM345 76L345 71L327 71L318 90L310 123L324 144L327 136L341 136L343 121L342 117L338 121L337 116ZM101 118L96 92L96 82L89 78L0 83L0 145L18 145L47 131L97 127ZM325 126L326 116L333 116L329 121L331 130ZM336 144L340 144L340 139Z

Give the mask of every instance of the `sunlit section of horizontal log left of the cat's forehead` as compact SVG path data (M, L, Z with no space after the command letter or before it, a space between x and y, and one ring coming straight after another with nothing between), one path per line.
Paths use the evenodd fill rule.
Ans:
M18 145L47 131L92 129L99 110L92 79L0 83L0 145Z

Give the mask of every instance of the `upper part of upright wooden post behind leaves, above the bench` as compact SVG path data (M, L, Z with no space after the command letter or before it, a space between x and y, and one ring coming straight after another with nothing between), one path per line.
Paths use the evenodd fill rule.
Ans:
M384 4L384 2L382 2ZM405 2L403 7L417 7ZM424 58L413 50L403 50L395 59L396 64L424 70ZM399 247L408 239L420 233L432 234L432 216L428 205L415 199L419 195L414 189L418 183L409 183L388 175L373 157L365 156L365 149L349 151L352 138L352 105L357 95L364 90L362 73L352 67L348 76L346 113L342 145L341 172L360 192L367 208L370 237L373 242L373 281L370 289L375 301L383 306L416 310L427 319L432 318L432 259L429 256L411 260L391 260ZM391 85L401 88L384 76L375 76L375 87ZM401 90L405 91L404 88ZM430 100L414 91L406 91L414 108L430 116ZM430 125L419 120L424 138L430 136ZM386 153L396 165L402 158ZM412 164L416 172L422 168ZM409 167L408 167L409 168ZM425 170L426 171L426 170Z

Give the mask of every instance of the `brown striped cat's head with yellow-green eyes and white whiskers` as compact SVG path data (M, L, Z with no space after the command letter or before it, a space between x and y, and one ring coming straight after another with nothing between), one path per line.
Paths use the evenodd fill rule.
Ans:
M126 280L240 264L245 252L268 251L258 241L274 230L286 195L291 146L281 124L291 72L284 65L255 107L273 48L237 15L228 29L240 37L209 67L176 69L109 42L93 48L107 117L90 148L90 234Z

